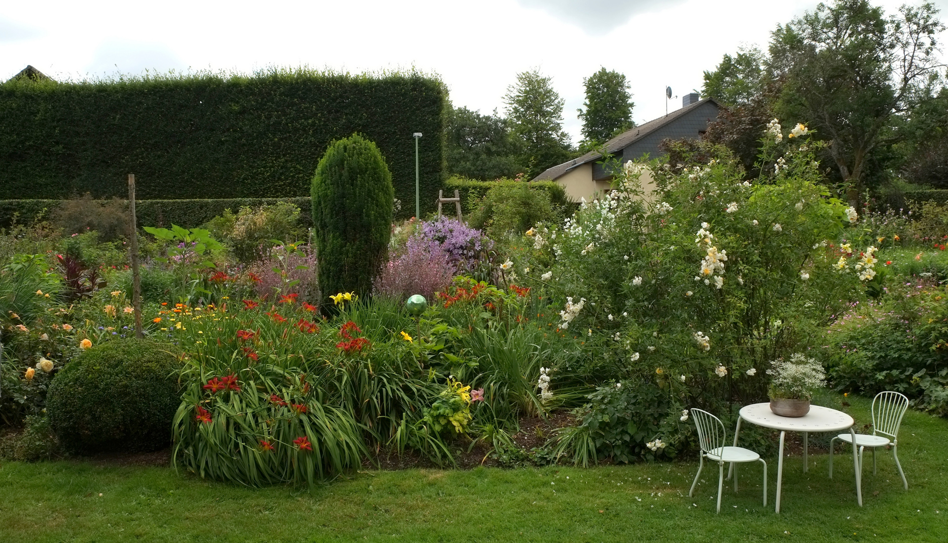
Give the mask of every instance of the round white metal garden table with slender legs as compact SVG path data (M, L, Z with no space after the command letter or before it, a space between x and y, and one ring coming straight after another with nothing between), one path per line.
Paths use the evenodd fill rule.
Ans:
M803 417L780 417L775 415L770 409L770 403L753 403L740 408L740 417L738 418L738 428L734 432L734 446L738 446L738 435L740 434L741 421L748 421L764 428L773 428L780 430L780 452L776 464L776 512L780 513L780 487L783 483L783 440L787 432L803 432L803 471L807 472L807 448L809 446L810 432L838 432L849 430L852 434L852 440L855 442L856 433L852 429L855 421L842 411L822 407L820 405L811 405L810 412ZM859 506L863 506L862 477L859 473L859 456L856 453L857 447L852 448L853 471L856 474L856 499ZM727 477L731 478L734 473L734 464L732 463L727 472Z

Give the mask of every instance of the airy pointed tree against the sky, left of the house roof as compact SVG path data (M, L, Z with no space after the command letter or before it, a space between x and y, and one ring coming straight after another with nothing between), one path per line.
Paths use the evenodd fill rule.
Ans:
M570 137L563 131L564 102L552 81L538 70L520 72L517 84L503 97L507 118L522 143L520 163L530 178L572 156Z

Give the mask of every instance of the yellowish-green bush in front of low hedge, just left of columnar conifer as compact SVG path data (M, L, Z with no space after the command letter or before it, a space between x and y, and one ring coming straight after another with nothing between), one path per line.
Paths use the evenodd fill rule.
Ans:
M290 202L277 202L258 208L242 207L237 215L229 209L205 225L210 234L228 245L241 262L264 258L272 240L297 240L300 208Z

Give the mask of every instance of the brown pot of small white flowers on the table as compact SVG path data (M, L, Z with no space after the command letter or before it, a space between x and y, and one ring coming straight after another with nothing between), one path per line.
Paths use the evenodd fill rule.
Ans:
M816 359L802 353L791 355L790 360L771 361L767 374L771 381L771 411L781 417L803 417L810 412L813 391L826 385L826 371Z

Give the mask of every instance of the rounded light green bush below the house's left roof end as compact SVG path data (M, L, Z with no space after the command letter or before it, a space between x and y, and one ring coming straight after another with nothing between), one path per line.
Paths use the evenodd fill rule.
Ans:
M522 181L495 183L478 201L468 224L501 239L523 234L538 222L558 222L550 193L532 185Z

